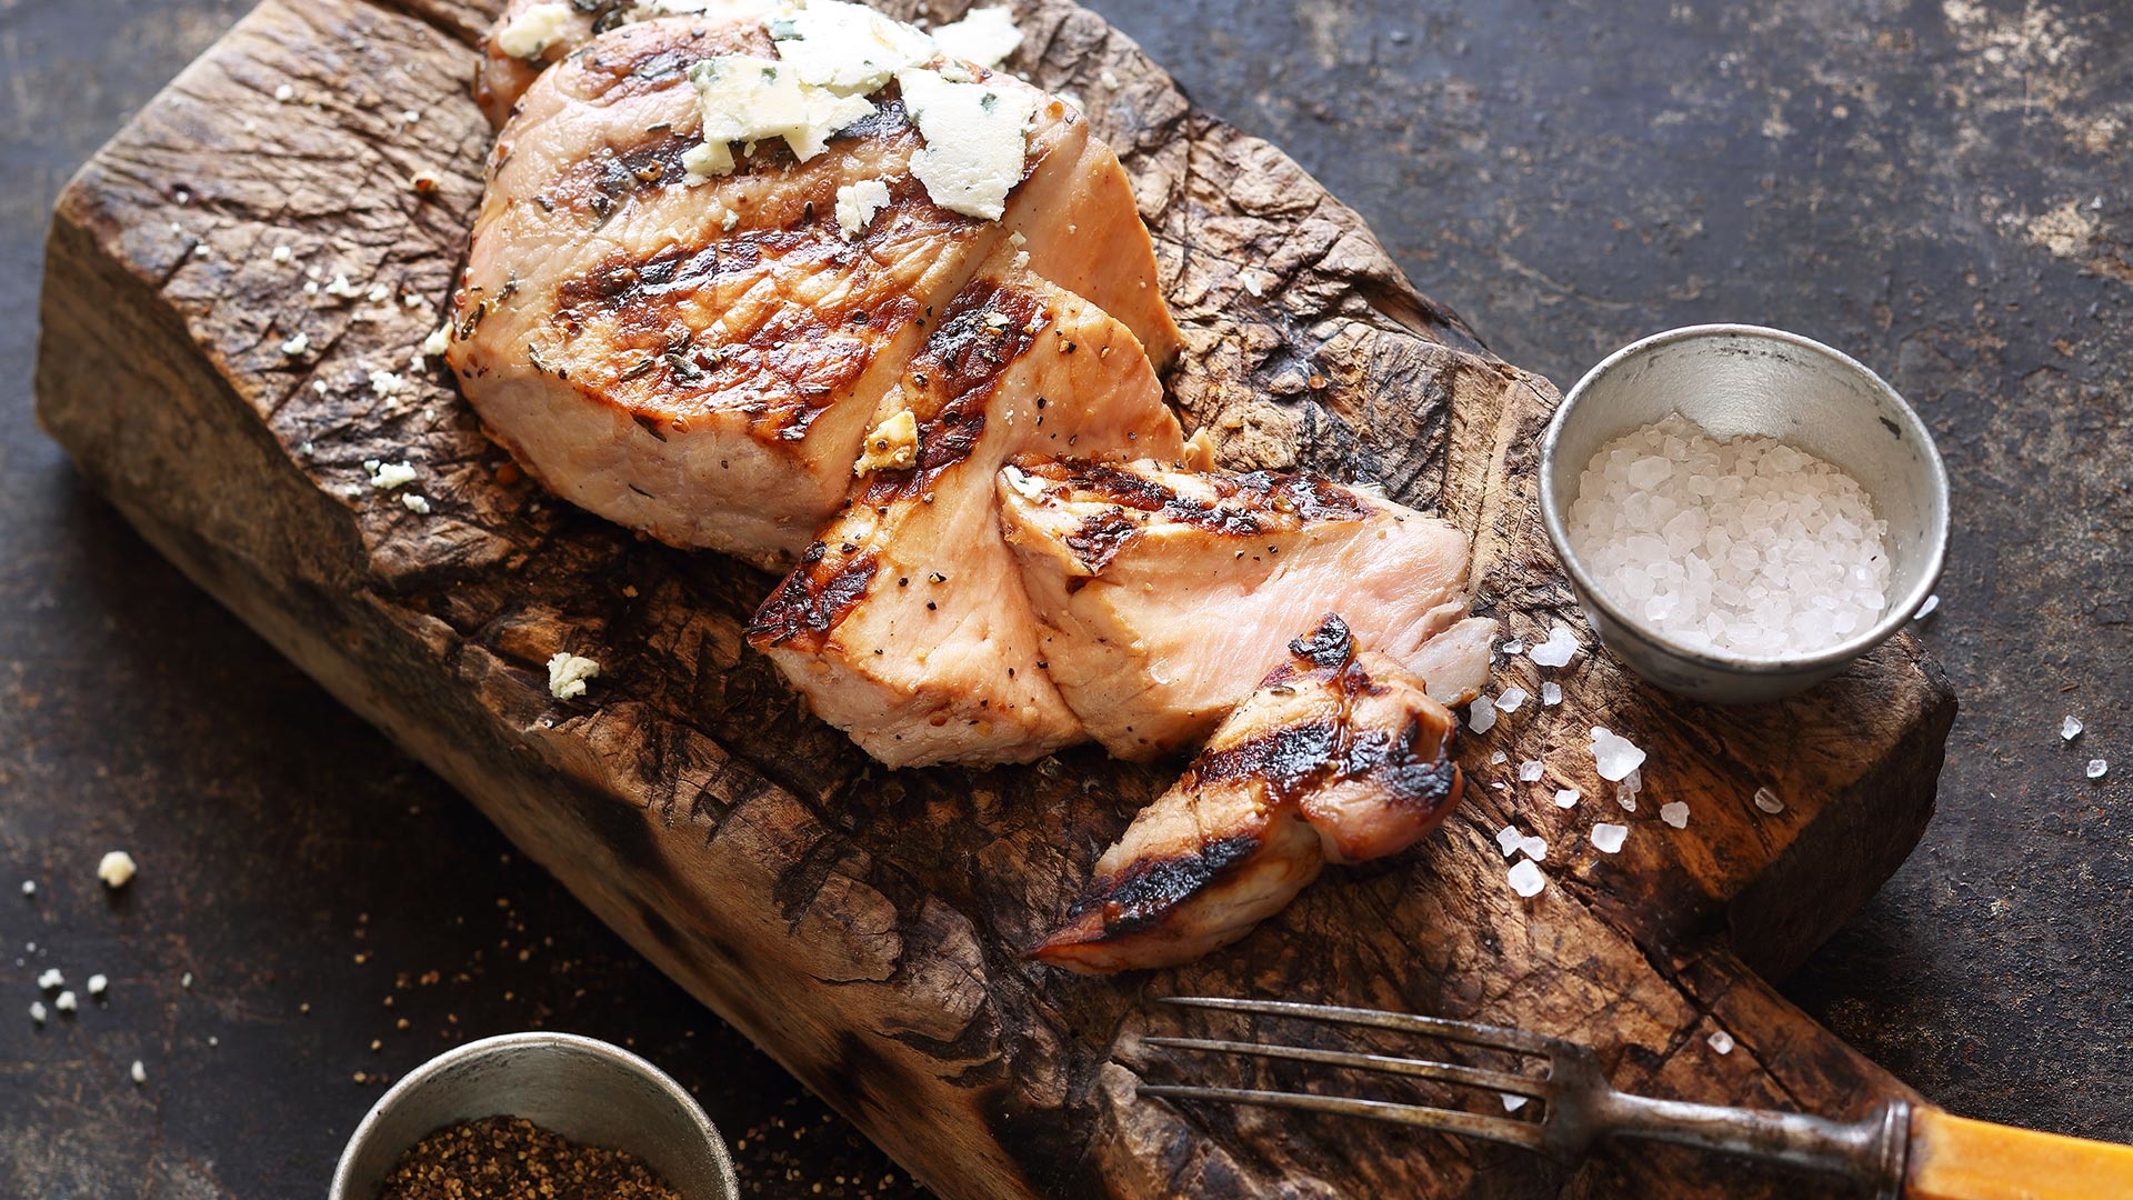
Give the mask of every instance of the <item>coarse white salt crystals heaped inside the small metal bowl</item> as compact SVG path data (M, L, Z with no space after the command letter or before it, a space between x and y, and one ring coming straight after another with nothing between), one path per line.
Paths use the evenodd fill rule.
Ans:
M1694 649L1811 653L1888 606L1888 521L1775 438L1715 442L1672 414L1593 455L1568 523L1600 591Z

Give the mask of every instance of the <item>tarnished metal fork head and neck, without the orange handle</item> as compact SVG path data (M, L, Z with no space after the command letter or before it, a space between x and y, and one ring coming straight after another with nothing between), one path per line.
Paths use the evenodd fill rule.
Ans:
M1549 1063L1546 1078L1472 1068L1463 1063L1322 1051L1316 1046L1222 1042L1207 1038L1143 1038L1150 1046L1169 1046L1173 1051L1288 1059L1299 1063L1399 1074L1408 1078L1429 1078L1504 1095L1525 1095L1542 1104L1542 1115L1538 1121L1523 1121L1508 1115L1489 1117L1482 1112L1436 1108L1429 1104L1397 1104L1352 1095L1254 1091L1237 1087L1141 1085L1141 1095L1156 1095L1165 1100L1222 1100L1231 1104L1265 1104L1273 1108L1301 1108L1305 1112L1397 1121L1401 1125L1418 1125L1423 1130L1525 1147L1566 1164L1583 1159L1591 1151L1593 1142L1602 1138L1653 1138L1839 1174L1864 1189L1871 1189L1877 1198L1894 1198L1903 1189L1905 1151L1909 1144L1907 1130L1911 1121L1911 1106L1903 1100L1883 1104L1871 1117L1860 1121L1830 1121L1824 1117L1809 1117L1805 1112L1768 1112L1760 1108L1721 1108L1717 1104L1653 1100L1649 1095L1615 1091L1600 1070L1600 1057L1587 1046L1563 1042L1561 1038L1527 1033L1523 1029L1506 1029L1502 1025L1474 1025L1470 1021L1444 1021L1440 1016L1378 1012L1369 1008L1327 1008L1320 1004L1290 1004L1276 999L1165 997L1165 1004L1216 1008L1222 1012L1248 1012L1258 1016L1293 1016L1299 1021L1322 1021L1331 1025L1363 1025L1372 1029L1423 1033L1444 1042L1461 1042L1489 1051L1540 1057Z

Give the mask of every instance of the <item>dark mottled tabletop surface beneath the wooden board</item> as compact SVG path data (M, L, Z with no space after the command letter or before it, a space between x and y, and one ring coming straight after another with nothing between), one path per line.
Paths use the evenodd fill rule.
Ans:
M751 1191L909 1191L30 421L51 196L243 9L0 0L0 1196L316 1196L386 1080L520 1027L663 1063ZM1958 1112L2133 1140L2133 13L1096 9L1559 384L1655 329L1758 320L1918 404L1958 515L1922 628L1962 717L1924 846L1785 991ZM2088 758L2124 762L2088 781ZM141 863L117 897L111 848ZM47 967L111 991L34 1027Z

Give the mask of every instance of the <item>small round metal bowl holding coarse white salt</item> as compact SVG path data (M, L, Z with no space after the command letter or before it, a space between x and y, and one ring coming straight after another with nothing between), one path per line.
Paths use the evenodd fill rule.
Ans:
M1687 647L1600 594L1570 549L1570 504L1600 446L1681 412L1713 438L1762 433L1834 463L1888 521L1890 604L1841 645L1787 658ZM1691 325L1608 354L1570 389L1540 442L1540 510L1600 641L1668 692L1775 700L1843 670L1901 630L1941 579L1947 470L1932 433L1881 376L1822 342L1758 325Z

